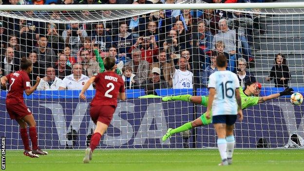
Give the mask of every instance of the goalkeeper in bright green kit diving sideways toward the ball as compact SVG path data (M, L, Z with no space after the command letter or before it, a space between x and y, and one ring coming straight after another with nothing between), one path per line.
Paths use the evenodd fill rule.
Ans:
M255 106L259 103L263 103L267 100L274 99L284 95L292 95L293 89L286 87L283 92L267 95L264 97L256 97L253 96L254 92L257 89L257 84L255 82L247 82L245 84L245 90L242 87L240 89L241 101L242 101L242 109L246 109L250 106ZM165 96L162 98L163 101L189 101L195 104L201 104L203 106L207 106L208 104L208 96L192 96L192 95L177 95L177 96ZM206 118L205 114L202 114L201 117L196 118L192 122L185 123L184 125L172 129L169 128L167 133L163 136L162 140L166 141L172 134L180 133L198 126L209 125L212 122L212 117L210 119Z

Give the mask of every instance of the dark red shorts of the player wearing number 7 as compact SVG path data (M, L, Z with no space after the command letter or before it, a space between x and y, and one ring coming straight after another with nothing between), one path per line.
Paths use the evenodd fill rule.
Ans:
M11 119L22 119L24 116L32 114L24 103L6 104L6 110Z

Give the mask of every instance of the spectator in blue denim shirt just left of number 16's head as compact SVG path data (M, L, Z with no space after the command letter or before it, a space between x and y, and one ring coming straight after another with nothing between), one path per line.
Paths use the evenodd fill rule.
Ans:
M217 57L217 53L213 53L211 55L211 64L209 66L206 67L205 71L202 71L200 73L201 76L201 84L202 87L207 87L208 86L208 81L209 81L209 76L214 73L215 71L217 71L217 67L216 67L216 57Z

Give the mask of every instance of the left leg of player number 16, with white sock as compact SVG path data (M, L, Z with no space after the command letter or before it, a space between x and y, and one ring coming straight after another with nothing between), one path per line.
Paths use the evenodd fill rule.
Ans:
M226 142L226 118L225 115L213 116L213 126L218 136L217 147L219 149L222 163L219 165L228 165L227 161L227 142Z

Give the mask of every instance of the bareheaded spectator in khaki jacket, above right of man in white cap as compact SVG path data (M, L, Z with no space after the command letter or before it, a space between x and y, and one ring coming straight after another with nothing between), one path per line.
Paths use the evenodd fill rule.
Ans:
M173 75L173 60L170 60L170 63L167 62L166 52L163 50L159 51L159 55L157 56L158 62L154 62L150 65L150 75L153 76L152 68L160 68L160 78L165 80L168 83L168 87L172 87L172 75Z

